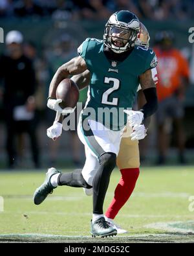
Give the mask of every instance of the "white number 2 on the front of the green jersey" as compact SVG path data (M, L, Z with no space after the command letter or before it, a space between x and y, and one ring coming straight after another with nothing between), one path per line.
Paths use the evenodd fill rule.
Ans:
M107 89L107 91L105 91L102 95L102 104L108 104L108 105L114 105L117 106L118 105L118 98L113 98L112 101L108 100L108 97L111 93L113 93L113 91L116 91L119 87L120 87L120 80L118 80L117 78L109 78L109 77L105 77L104 78L104 83L105 84L110 84L110 82L113 82L113 87Z

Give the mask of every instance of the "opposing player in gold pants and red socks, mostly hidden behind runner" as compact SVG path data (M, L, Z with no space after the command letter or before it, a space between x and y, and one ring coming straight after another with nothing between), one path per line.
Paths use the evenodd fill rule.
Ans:
M140 33L138 34L138 39L135 44L149 48L149 33L144 26L140 22ZM155 84L158 82L156 67L151 69L153 80ZM85 71L83 74L72 76L71 78L78 84L79 86L82 83L87 83L89 85L91 81L91 76L89 71ZM140 86L138 86L138 108L142 108L146 103L144 93ZM149 119L147 118L146 126L148 125ZM58 126L61 124L58 122ZM51 126L48 128L48 137L53 138L56 137L56 129L58 127ZM138 129L131 134L131 127L129 125L126 126L126 130L122 135L122 140L120 143L120 150L118 156L116 157L116 165L121 172L121 178L116 186L114 191L114 198L109 205L107 211L105 212L105 220L107 220L111 226L114 226L117 230L118 234L127 233L127 230L122 229L119 225L114 222L115 216L118 214L118 211L122 208L122 206L127 202L128 198L131 196L133 189L135 188L136 181L138 179L138 175L140 173L140 157L139 157L139 149L138 149L138 140L144 139L146 128L144 126L140 126ZM61 134L58 134L61 135ZM85 146L86 155L88 152L87 146ZM87 157L88 159L88 157ZM94 177L98 170L98 160L96 158L92 158L92 161L87 161L88 165L85 164L84 168L81 170L81 174L83 175L85 181L92 185L91 177ZM92 195L92 189L85 189L83 191L87 196Z

